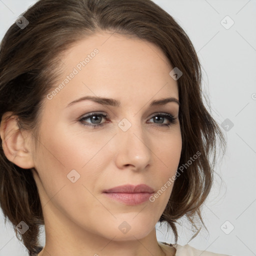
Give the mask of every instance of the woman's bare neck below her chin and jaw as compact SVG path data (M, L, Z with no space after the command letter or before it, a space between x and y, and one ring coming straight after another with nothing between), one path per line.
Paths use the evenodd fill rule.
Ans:
M38 256L165 256L165 252L157 242L153 228L142 237L136 235L112 237L100 235L100 230L85 230L59 214L52 221L52 215L44 215L45 246ZM50 222L49 222L50 221ZM118 230L119 231L119 230ZM129 233L127 233L128 235ZM121 240L122 239L122 240Z

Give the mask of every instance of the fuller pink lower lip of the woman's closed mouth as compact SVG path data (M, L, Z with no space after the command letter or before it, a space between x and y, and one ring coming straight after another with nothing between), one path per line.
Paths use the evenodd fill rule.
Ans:
M153 193L104 193L113 200L120 201L127 205L136 205L143 203L149 199Z

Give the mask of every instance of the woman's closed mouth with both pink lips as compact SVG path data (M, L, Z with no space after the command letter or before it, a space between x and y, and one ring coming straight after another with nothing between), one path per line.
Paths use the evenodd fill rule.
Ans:
M127 184L103 190L103 194L108 198L126 205L137 205L146 202L153 193L154 190L146 184Z

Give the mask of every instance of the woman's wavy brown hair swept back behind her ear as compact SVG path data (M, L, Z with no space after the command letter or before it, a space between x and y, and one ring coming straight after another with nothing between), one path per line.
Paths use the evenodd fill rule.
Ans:
M95 32L115 32L153 42L172 67L181 70L183 74L177 80L182 136L179 166L195 152L200 156L175 179L159 221L169 224L175 242L175 223L180 217L186 216L196 227L193 218L198 216L205 227L200 207L212 185L217 139L223 147L225 139L203 104L199 60L178 23L151 0L39 0L22 15L29 24L21 29L13 23L1 41L0 117L11 111L19 128L31 130L35 137L42 100L60 73L58 56ZM0 206L5 223L8 218L14 227L21 220L29 226L21 239L29 255L36 255L42 248L39 225L44 224L37 187L31 170L9 161L2 147ZM200 229L196 229L197 234Z

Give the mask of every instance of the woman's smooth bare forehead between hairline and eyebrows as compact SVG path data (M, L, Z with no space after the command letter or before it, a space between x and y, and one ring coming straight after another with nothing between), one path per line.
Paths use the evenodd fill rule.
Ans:
M118 98L143 95L147 100L156 94L158 97L171 94L178 98L177 82L169 75L172 67L167 57L148 41L96 33L70 47L61 61L63 75L59 83L64 84L66 76L75 70L73 78L57 93L63 102L86 94L119 95Z

